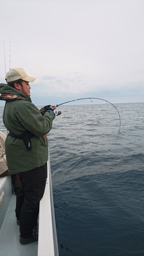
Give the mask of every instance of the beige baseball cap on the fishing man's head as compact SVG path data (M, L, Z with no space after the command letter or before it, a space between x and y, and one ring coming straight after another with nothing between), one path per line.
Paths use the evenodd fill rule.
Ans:
M12 68L10 71L8 71L5 75L6 82L13 82L18 79L22 79L27 82L34 82L35 77L28 76L23 68Z

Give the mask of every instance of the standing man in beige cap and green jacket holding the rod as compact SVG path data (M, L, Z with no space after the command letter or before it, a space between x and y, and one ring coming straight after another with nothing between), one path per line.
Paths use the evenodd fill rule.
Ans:
M52 106L38 110L32 104L29 82L35 79L22 68L13 68L6 73L7 84L0 84L0 99L6 101L3 122L9 131L5 140L8 172L20 173L23 180L16 200L21 244L37 241L33 229L37 226L39 202L44 195L47 178L46 134L55 118Z

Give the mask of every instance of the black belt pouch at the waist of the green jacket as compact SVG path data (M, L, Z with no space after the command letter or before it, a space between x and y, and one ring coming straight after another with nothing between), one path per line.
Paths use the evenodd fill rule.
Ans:
M13 138L23 140L26 148L28 150L31 150L31 138L35 136L33 133L26 131L21 135L15 135L13 133L9 133L9 135Z

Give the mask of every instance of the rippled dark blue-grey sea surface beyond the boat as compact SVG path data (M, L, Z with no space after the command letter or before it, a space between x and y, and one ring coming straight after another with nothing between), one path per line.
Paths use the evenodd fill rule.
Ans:
M111 104L62 105L53 120L60 256L144 256L144 103L114 105L119 136Z

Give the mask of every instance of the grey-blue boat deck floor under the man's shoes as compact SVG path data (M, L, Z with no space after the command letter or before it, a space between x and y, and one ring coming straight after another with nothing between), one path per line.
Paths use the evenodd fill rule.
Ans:
M0 255L35 256L37 255L38 242L26 245L20 244L20 227L16 223L15 205L16 196L12 195L3 226L0 230Z

